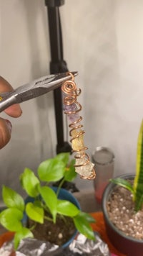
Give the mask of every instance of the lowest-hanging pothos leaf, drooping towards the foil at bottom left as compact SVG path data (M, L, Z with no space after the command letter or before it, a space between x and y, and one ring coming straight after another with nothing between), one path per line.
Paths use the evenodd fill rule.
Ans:
M21 239L24 239L26 237L31 237L31 238L34 237L32 232L29 229L27 229L26 227L22 227L19 230L19 232L16 232L16 234L14 235L14 249L15 250L19 247L19 243L20 243Z

